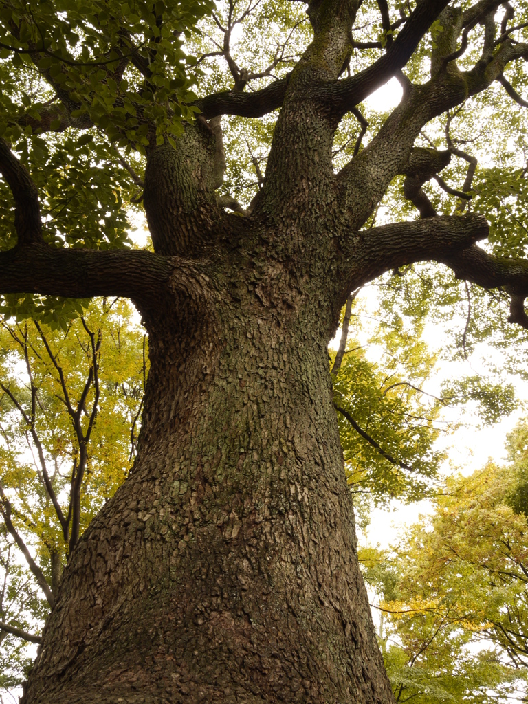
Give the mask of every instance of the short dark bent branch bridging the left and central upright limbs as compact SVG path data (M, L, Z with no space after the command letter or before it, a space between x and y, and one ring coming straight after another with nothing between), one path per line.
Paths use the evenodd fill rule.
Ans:
M201 98L196 105L206 120L218 115L239 115L243 118L261 118L280 106L288 87L289 76L270 83L254 93L234 90L213 93Z

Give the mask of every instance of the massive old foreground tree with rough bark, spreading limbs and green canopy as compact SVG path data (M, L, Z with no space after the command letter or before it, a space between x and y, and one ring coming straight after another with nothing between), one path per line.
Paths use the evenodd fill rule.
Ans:
M527 8L314 0L309 24L289 2L1 8L0 169L12 200L0 291L13 309L20 291L27 306L54 296L58 316L58 297L130 298L151 364L134 469L70 555L25 703L391 701L327 343L351 291L422 260L501 288L510 322L528 327L517 221L497 253L475 244L489 224L465 213L476 158L453 126L459 108L471 123L468 101L499 82L518 130ZM232 54L240 23L254 70ZM260 50L256 37L274 32L276 51ZM229 78L208 58L225 60ZM403 99L362 148L358 106L393 76ZM249 171L225 155L223 115L239 118L227 141L238 134L251 151L251 203L225 192L237 195ZM447 149L439 132L422 144L426 125L442 127ZM264 145L271 136L267 155L252 129ZM439 176L453 156L467 166L460 189ZM526 173L513 158L500 166L505 201L521 203ZM400 177L422 217L376 224ZM427 196L431 179L448 206ZM123 203L140 199L153 251L127 246Z

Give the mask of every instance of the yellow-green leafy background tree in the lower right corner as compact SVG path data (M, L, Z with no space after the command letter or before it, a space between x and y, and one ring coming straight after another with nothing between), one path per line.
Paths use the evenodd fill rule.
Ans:
M449 477L393 554L365 554L397 701L494 702L526 687L528 507L515 508L526 430L510 436L513 466Z

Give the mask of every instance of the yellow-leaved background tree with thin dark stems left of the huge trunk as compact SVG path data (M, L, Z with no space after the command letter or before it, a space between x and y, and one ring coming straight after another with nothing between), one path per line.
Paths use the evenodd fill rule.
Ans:
M1 322L2 688L24 681L20 639L39 643L68 555L136 451L144 334L126 301L78 312L65 330L49 311Z

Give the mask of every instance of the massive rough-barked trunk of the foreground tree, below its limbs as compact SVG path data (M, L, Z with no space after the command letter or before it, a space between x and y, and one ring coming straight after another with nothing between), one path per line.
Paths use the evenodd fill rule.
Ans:
M65 570L26 704L392 700L322 293L281 263L218 270L190 303L142 311L137 463Z

